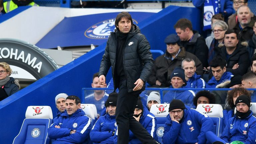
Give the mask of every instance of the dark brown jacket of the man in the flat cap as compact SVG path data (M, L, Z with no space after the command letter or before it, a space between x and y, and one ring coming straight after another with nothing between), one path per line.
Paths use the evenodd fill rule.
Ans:
M203 75L203 66L200 60L195 55L186 52L182 46L180 47L180 53L173 60L166 59L165 57L171 57L171 55L166 51L165 54L156 58L152 73L147 81L150 85L155 85L156 80L159 80L162 83L162 87L169 87L171 85L170 76L173 70L175 67L181 67L181 62L185 58L193 59L197 74Z

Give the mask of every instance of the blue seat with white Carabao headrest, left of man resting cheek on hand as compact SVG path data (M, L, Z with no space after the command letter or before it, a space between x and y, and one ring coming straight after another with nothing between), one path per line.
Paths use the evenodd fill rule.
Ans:
M158 141L162 144L162 136L164 134L164 126L166 122L166 116L169 114L169 104L153 104L150 112L155 115L157 121L157 137Z

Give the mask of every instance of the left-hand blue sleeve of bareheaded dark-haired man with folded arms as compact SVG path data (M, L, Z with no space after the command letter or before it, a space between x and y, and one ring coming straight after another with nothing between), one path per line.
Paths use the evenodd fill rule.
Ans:
M59 119L57 119L49 128L48 128L48 136L51 139L57 139L61 137L68 136L70 134L70 130L68 128L55 128L56 125L59 125Z

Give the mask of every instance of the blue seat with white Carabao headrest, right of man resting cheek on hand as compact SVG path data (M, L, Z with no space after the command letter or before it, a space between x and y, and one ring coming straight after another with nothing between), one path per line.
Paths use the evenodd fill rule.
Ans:
M213 133L218 137L222 134L222 123L223 123L223 109L220 104L199 104L196 108L202 114L205 114L213 121Z

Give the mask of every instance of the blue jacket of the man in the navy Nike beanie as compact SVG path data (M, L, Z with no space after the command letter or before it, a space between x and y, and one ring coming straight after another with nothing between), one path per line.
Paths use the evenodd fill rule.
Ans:
M170 88L173 88L172 85L170 86ZM187 85L181 88L190 88L190 87ZM167 92L164 95L163 102L170 103L173 99L179 99L184 104L189 105L190 107L195 107L193 104L193 98L195 97L195 95L196 95L195 92L192 90L186 90L186 91L172 90Z

